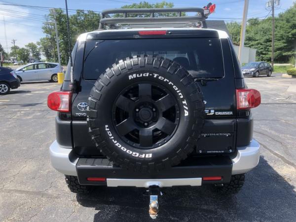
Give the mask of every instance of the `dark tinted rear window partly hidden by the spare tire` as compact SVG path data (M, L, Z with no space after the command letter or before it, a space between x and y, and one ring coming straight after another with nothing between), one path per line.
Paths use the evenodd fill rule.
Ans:
M88 40L84 53L84 78L97 79L113 63L143 54L171 59L185 67L193 77L219 78L224 75L219 38L146 38Z

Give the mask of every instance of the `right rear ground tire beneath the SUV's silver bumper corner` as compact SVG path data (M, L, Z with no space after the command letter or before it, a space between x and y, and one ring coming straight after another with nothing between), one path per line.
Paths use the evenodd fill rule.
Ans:
M229 184L217 187L221 193L236 194L240 191L245 182L245 174L232 175Z

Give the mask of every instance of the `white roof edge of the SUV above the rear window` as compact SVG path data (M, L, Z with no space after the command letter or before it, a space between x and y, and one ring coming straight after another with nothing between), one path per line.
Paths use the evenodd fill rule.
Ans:
M89 33L83 33L77 37L77 41L85 41L86 37L90 33L106 33L106 32L132 32L132 31L155 31L155 30L199 30L201 32L206 32L207 30L217 31L219 38L229 38L225 31L217 29L201 29L201 28L154 28L154 29L107 29L107 30L97 30Z

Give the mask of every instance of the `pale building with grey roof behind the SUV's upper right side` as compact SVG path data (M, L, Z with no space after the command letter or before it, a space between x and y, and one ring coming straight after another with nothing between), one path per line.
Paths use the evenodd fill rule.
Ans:
M206 24L208 29L222 30L225 31L228 34L228 36L230 36L226 24L223 20L207 20ZM239 46L234 45L234 50L236 52L236 55L238 55ZM255 48L243 47L241 63L255 62L256 50L257 49Z

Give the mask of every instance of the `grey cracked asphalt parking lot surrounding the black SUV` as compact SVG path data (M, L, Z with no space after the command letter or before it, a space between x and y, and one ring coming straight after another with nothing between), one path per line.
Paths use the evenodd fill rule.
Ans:
M296 78L280 76L246 78L261 92L262 104L253 110L261 157L241 192L166 188L156 221L296 220ZM145 189L100 187L76 195L51 167L56 113L46 99L59 88L25 83L0 96L0 221L151 221Z

